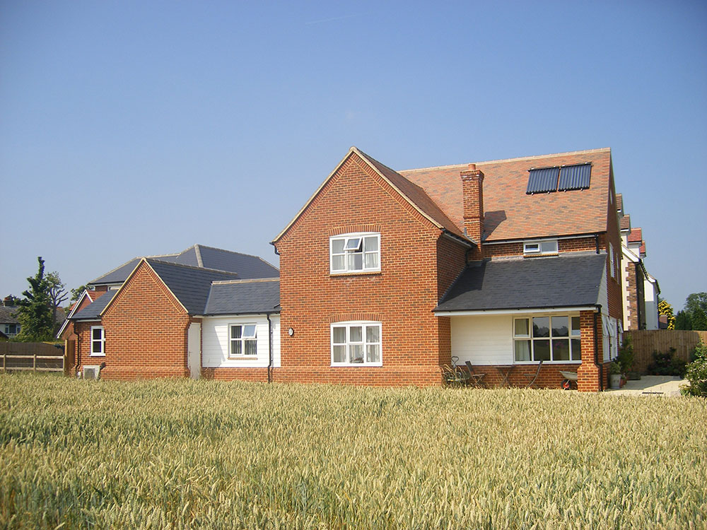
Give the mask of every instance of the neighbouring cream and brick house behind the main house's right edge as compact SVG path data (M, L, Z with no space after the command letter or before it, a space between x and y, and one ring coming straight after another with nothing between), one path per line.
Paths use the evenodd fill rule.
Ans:
M623 329L658 329L660 285L645 269L645 240L641 228L631 228L631 216L624 212L624 198L617 194L621 230L621 290L623 292Z

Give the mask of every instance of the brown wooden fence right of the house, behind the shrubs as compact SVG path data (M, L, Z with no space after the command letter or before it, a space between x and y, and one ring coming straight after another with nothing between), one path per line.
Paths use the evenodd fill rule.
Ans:
M674 358L690 362L690 355L700 337L707 343L707 331L682 331L678 329L653 329L625 331L633 341L633 369L645 374L653 363L653 352L667 353L675 348Z

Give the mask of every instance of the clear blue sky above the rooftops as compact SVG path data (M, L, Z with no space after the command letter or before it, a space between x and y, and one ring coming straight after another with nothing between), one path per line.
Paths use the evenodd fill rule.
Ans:
M707 4L0 3L0 295L258 254L349 146L398 170L611 147L645 264L707 291Z

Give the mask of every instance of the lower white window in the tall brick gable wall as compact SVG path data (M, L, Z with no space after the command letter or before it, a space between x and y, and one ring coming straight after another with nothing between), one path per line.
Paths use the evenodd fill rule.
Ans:
M332 366L380 366L380 328L380 322L332 324Z

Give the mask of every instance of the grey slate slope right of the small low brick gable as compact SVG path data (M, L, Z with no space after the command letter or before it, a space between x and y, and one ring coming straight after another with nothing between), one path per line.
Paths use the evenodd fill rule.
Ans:
M238 278L238 274L231 272L201 269L151 258L146 259L146 261L157 275L162 278L162 281L170 288L189 314L204 313L206 299L209 298L212 282Z

